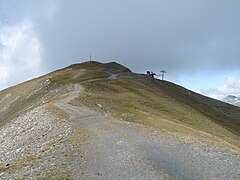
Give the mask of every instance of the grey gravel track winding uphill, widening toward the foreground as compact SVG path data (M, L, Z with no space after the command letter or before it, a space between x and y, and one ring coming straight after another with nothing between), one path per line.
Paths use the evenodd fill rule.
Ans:
M56 105L79 120L94 136L82 147L83 179L239 179L240 156L216 146L187 144L154 129L102 117L70 105L83 89ZM141 127L142 128L142 127ZM141 129L140 128L140 129Z

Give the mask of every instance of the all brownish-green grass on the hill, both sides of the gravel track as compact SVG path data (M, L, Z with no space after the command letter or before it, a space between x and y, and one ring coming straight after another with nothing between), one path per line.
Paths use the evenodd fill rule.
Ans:
M82 69L86 72L76 77ZM120 73L122 78L108 78L114 73ZM52 82L49 86L28 96L35 86L48 78ZM240 108L206 98L170 82L136 75L117 63L76 64L0 92L1 109L20 96L1 113L0 126L21 113L22 109L40 104L46 92L72 83L81 83L86 89L73 102L76 105L182 135L208 133L240 147ZM9 93L13 95L2 100Z

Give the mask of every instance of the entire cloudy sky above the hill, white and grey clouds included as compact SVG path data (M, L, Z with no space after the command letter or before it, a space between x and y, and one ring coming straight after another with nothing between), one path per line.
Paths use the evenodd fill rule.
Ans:
M0 0L0 89L117 61L214 98L240 96L239 0Z

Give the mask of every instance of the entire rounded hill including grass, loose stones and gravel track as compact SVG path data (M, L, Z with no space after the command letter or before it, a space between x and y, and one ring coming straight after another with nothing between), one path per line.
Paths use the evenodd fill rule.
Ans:
M239 117L115 62L71 65L0 92L0 177L239 177Z

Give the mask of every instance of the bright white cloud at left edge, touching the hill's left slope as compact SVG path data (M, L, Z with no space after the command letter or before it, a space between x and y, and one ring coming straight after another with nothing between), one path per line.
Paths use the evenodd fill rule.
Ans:
M31 21L0 27L0 89L40 74L41 46Z

